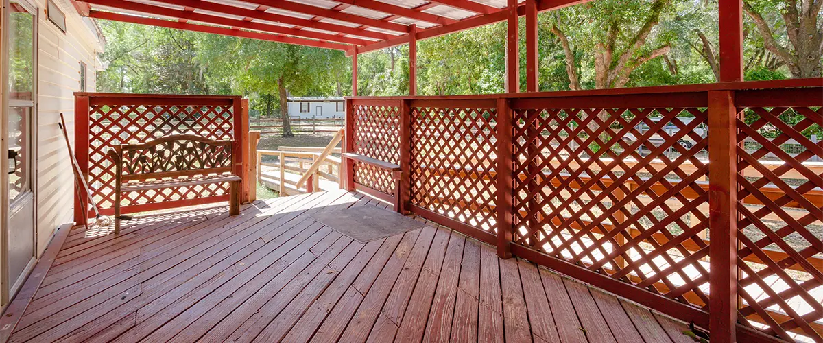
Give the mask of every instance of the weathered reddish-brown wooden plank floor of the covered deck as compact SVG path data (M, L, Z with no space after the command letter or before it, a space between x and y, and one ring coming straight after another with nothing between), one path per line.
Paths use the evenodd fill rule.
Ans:
M387 205L323 192L72 229L10 341L692 342L433 223L362 244L310 217L340 206Z

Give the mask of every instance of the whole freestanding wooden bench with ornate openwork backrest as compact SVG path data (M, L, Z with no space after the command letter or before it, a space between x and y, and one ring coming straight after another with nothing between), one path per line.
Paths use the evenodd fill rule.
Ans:
M230 183L229 214L240 212L240 178L234 141L213 141L193 135L171 135L142 144L114 146L114 233L120 232L120 200L125 192Z

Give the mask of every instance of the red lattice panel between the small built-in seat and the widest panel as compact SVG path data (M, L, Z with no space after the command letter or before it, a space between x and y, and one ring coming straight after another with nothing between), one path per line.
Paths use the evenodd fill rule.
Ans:
M496 109L412 109L412 204L493 232Z

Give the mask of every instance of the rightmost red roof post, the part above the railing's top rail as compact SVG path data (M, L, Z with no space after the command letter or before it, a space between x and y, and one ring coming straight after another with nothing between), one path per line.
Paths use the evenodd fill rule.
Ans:
M743 16L741 0L720 0L720 80L743 81Z

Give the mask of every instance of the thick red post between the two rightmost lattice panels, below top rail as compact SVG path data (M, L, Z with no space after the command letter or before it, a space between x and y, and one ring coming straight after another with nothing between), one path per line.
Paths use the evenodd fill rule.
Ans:
M737 109L734 93L709 91L709 331L737 341Z

